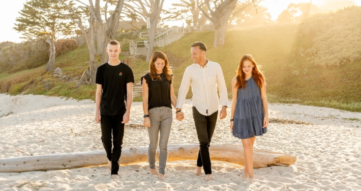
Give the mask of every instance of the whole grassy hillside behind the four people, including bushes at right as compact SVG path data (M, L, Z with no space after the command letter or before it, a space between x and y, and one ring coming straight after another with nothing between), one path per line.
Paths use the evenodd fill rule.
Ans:
M206 57L222 66L229 98L231 79L235 76L240 57L247 53L263 66L269 102L361 112L359 12L360 7L351 7L336 13L314 15L299 25L227 31L226 44L218 48L212 46L214 32L198 32L156 49L185 60L174 71L176 94L185 68L192 64L190 44L202 41L208 47ZM95 87L74 88L88 65L87 61L86 46L56 58L55 67L61 67L69 80L46 73L44 65L14 74L0 73L0 91L94 99ZM141 59L132 61L136 80L147 67Z

